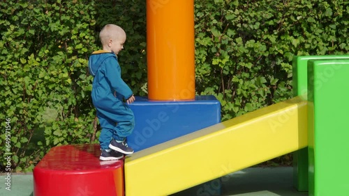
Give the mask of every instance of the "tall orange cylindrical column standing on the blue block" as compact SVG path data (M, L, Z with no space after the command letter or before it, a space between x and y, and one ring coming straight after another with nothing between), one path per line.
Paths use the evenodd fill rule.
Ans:
M148 99L195 99L194 0L147 0Z

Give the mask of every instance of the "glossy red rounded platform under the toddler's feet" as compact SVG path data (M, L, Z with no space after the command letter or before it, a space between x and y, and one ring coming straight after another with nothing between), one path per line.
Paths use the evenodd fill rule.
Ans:
M100 154L99 145L53 147L34 168L34 195L124 195L124 160L99 161Z

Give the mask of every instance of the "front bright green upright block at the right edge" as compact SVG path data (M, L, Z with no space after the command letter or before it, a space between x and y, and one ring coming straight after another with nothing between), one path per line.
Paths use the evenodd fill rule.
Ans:
M349 60L309 60L309 195L349 193Z

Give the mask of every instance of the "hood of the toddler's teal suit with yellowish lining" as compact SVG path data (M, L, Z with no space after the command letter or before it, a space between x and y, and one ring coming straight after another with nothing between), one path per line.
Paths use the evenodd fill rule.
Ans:
M105 51L105 50L94 51L89 57L89 73L92 76L96 76L96 73L99 67L101 67L105 58L110 58L110 57L117 58L114 52Z

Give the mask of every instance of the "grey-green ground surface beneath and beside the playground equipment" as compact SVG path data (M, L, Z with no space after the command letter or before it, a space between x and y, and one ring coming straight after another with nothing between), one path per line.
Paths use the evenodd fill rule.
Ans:
M291 167L246 168L221 178L221 195L305 196L292 187ZM0 196L34 196L32 174L12 174L11 190L6 190L6 175L0 174ZM214 183L214 181L212 182ZM214 186L213 186L214 187ZM203 189L202 189L203 190ZM183 191L176 196L205 196L205 191Z

